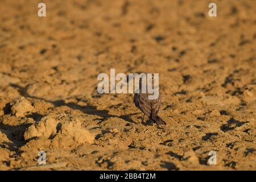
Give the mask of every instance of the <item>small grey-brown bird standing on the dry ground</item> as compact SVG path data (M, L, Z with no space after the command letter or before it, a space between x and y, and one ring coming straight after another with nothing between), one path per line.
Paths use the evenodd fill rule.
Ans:
M148 75L146 73L146 80L148 79ZM142 77L143 77L142 76ZM134 94L134 104L138 109L144 113L144 116L147 115L147 117L150 118L150 122L156 123L158 125L166 125L166 122L163 121L162 118L159 117L158 112L161 107L161 100L160 96L154 100L150 100L148 96L150 95L149 93L142 93L142 83L146 81L142 81L145 79L142 79L142 77L139 78L139 93ZM154 75L152 75L152 84L154 85ZM148 85L147 85L148 86ZM143 116L143 121L144 121L144 116Z

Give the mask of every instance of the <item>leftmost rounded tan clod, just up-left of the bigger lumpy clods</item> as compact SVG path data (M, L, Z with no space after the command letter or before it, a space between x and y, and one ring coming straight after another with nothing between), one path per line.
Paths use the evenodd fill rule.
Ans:
M23 117L25 113L34 109L30 101L26 100L24 97L14 100L10 105L11 114L15 115L16 117Z

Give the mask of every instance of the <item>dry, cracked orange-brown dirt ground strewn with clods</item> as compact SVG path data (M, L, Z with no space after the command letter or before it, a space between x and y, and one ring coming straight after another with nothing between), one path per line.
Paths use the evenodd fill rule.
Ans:
M39 2L0 1L1 170L256 169L254 0ZM97 93L110 68L159 73L166 126Z

